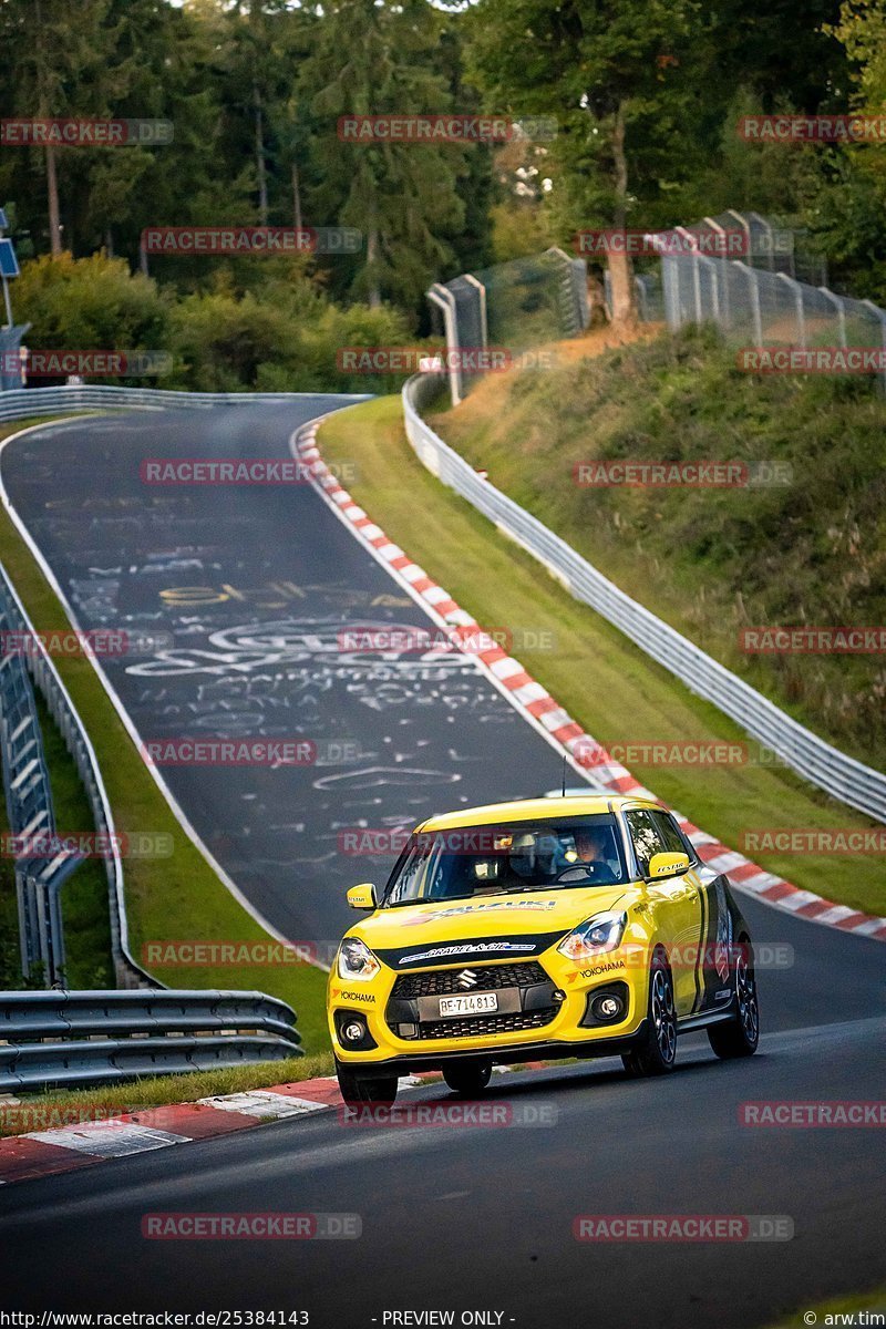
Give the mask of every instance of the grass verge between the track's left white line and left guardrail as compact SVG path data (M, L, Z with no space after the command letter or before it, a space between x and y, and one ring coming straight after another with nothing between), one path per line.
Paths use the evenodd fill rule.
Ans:
M4 427L0 436L24 427L25 423ZM37 631L66 626L57 597L5 512L0 512L0 561ZM231 896L179 827L90 662L64 657L56 666L94 744L117 831L165 832L173 839L171 857L129 859L124 864L130 948L135 958L141 961L142 946L149 941L264 940L264 930ZM259 989L280 997L295 1006L306 1051L319 1053L328 1046L325 974L311 965L150 968L162 982L174 987Z

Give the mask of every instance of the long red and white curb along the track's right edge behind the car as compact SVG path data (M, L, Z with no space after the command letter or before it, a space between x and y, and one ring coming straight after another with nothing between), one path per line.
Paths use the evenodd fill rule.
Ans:
M384 530L353 501L320 456L316 433L323 419L325 417L299 429L292 440L294 447L319 492L347 521L355 536L412 593L413 598L425 607L433 619L450 629L462 630L461 637L458 633L454 635L453 645L478 661L535 728L542 728L545 736L567 754L571 766L579 773L592 779L606 792L628 793L636 797L655 799L656 803L660 803L662 800L644 788L639 780L635 780L626 767L614 762L596 739L584 732L582 726L554 700L547 688L526 672L519 661L515 661L501 646L490 642L489 638L484 639L480 623L461 609L442 586L428 577L424 567L414 563L399 545L388 540ZM587 776L588 769L594 772L592 777ZM859 909L850 909L847 905L837 905L812 890L792 886L789 881L772 872L765 872L744 855L728 849L713 836L705 835L676 811L675 816L701 861L712 872L725 873L737 890L744 890L776 909L794 914L797 918L806 918L810 922L838 928L841 932L853 932L862 937L886 941L886 918L877 918Z

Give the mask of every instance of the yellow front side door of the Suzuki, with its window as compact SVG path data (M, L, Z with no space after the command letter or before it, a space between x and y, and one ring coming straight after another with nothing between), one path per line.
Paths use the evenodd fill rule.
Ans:
M685 853L680 832L665 812L652 808L634 808L624 813L634 852L646 877L655 853ZM680 877L650 881L646 886L652 905L656 929L668 956L673 977L673 997L677 1015L696 1010L699 985L696 977L699 942L701 937L701 890L696 872L689 868Z

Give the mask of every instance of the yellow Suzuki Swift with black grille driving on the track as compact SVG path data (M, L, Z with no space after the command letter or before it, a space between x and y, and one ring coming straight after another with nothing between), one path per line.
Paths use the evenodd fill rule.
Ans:
M477 1095L495 1063L620 1055L673 1067L705 1029L748 1057L760 1019L748 926L656 803L595 795L498 803L412 833L369 917L339 946L328 1018L347 1102L392 1102L440 1070Z

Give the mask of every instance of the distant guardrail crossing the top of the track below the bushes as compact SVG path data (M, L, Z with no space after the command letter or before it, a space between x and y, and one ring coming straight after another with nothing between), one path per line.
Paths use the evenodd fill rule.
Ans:
M68 411L158 411L222 405L283 405L316 392L174 392L167 388L116 388L81 384L64 388L13 388L0 392L0 421L65 415ZM337 392L336 396L364 401L365 393Z

